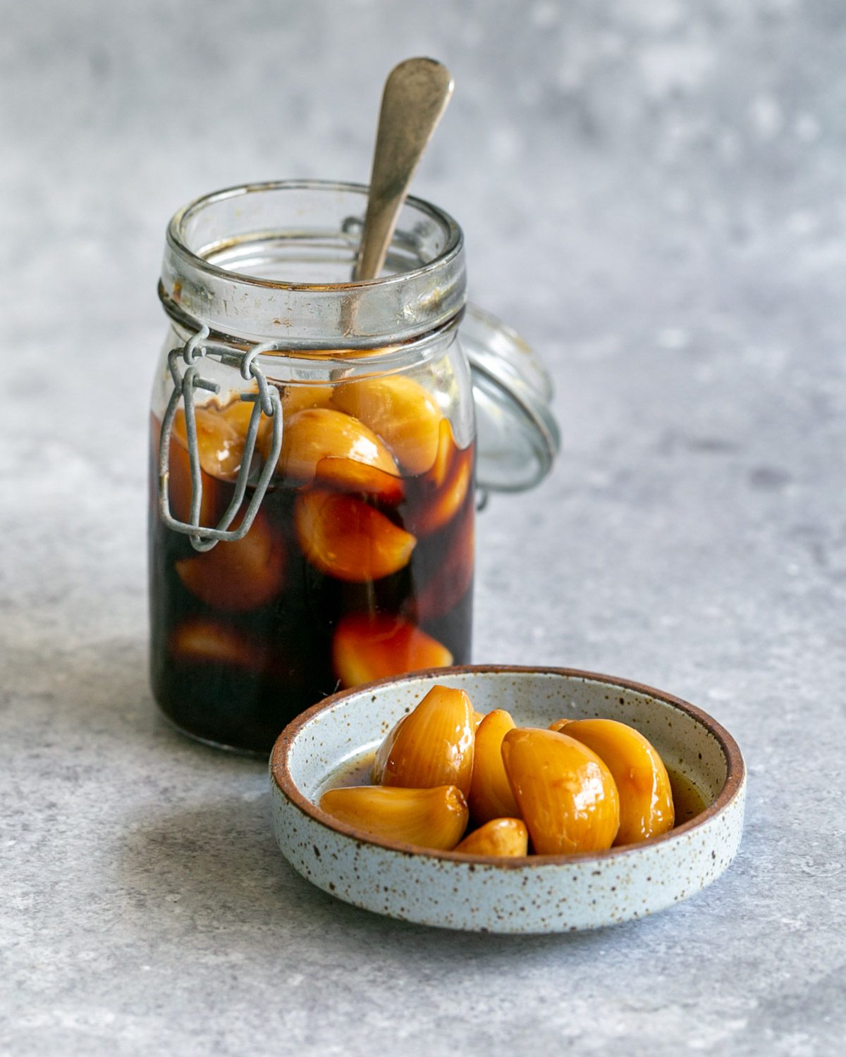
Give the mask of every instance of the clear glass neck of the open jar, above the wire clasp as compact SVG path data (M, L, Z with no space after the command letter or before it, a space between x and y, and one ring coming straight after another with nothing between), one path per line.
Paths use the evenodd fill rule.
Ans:
M185 323L292 349L376 348L442 326L465 301L463 235L409 197L388 274L352 281L369 188L269 181L214 191L167 228L160 296Z

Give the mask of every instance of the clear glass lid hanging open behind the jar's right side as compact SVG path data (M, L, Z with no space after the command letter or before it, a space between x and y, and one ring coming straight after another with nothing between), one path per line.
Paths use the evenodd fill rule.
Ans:
M473 375L479 487L531 488L560 447L549 373L519 334L475 304L466 307L459 340Z

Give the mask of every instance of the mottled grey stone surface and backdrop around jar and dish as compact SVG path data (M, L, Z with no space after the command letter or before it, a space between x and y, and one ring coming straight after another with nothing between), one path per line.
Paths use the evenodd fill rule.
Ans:
M695 8L695 13L693 10ZM2 3L0 1052L839 1052L846 1031L846 11L802 0ZM541 351L565 453L480 519L477 661L650 683L735 735L740 854L590 934L342 905L263 763L147 687L164 225L365 180L381 80L453 69L416 189Z

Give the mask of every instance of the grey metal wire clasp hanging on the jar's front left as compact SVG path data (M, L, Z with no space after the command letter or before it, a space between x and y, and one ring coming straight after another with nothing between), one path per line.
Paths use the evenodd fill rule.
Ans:
M272 352L279 348L278 342L268 342L257 345L249 352L238 352L226 346L206 342L208 328L203 327L197 334L188 338L181 348L171 349L167 354L167 366L173 378L173 392L168 401L165 416L162 420L162 434L159 444L159 514L162 521L168 528L190 536L191 546L196 551L210 551L218 542L232 542L242 539L253 524L256 513L268 484L276 467L279 451L282 447L282 412L279 402L279 391L274 386L268 385L264 372L256 363L256 357L263 352ZM251 378L256 381L257 393L241 393L242 401L250 401L253 404L253 411L250 415L250 425L246 429L246 440L244 441L243 457L238 477L235 481L235 495L232 502L226 507L223 517L216 527L200 524L200 506L203 498L203 480L200 472L200 450L197 445L197 422L194 414L194 390L206 389L208 392L220 392L217 382L200 376L200 369L197 360L203 356L214 356L220 363L228 367L237 367L241 372L244 382ZM180 373L178 360L185 364L184 373ZM170 438L173 428L173 418L176 416L180 400L185 404L185 433L188 442L188 459L191 469L191 502L190 521L179 521L170 513L170 500L168 497L168 478L170 465ZM243 518L237 528L229 531L235 516L241 508L244 493L246 492L250 467L253 463L253 452L256 446L256 435L258 424L262 411L268 418L273 420L273 438L271 440L271 450L264 460L264 465L256 482L253 498L244 512Z

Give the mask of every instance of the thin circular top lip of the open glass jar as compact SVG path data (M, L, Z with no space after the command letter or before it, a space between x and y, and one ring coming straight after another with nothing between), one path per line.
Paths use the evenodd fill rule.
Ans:
M407 281L419 278L420 276L424 276L429 272L442 267L444 264L453 260L463 247L464 237L461 228L453 217L446 212L445 209L441 209L439 206L433 205L431 202L427 202L425 199L418 198L415 194L408 194L405 199L406 203L419 209L421 212L427 214L433 220L439 222L448 233L446 243L443 249L441 249L436 257L434 257L430 261L427 261L425 264L421 264L420 267L409 268L407 272L397 272L392 275L380 276L374 279L350 279L349 282L332 283L287 282L280 279L262 279L259 276L250 275L246 272L238 272L233 268L221 267L219 264L213 263L207 257L203 256L202 252L192 249L188 244L188 222L202 209L226 199L274 190L352 191L363 194L365 204L367 202L367 197L370 193L370 187L368 184L353 183L344 180L265 180L259 183L234 184L231 187L223 187L220 190L201 194L199 198L194 199L178 209L170 218L170 222L167 225L167 241L174 251L177 251L181 256L187 258L195 267L218 277L237 279L239 282L246 282L255 286L269 288L272 290L296 290L304 292L326 291L327 289L354 290L362 286L381 288L396 284L398 282L401 283L404 280Z

